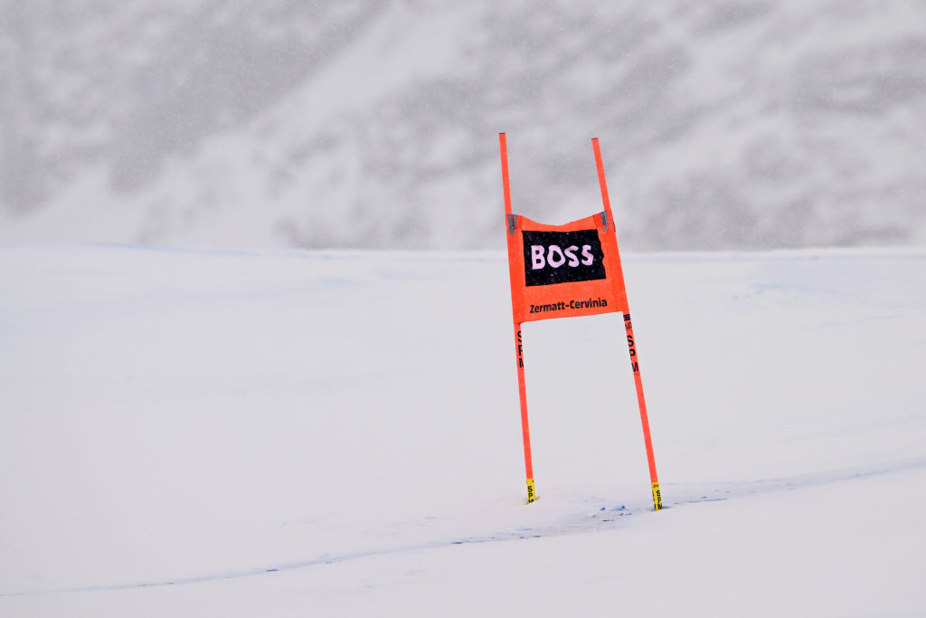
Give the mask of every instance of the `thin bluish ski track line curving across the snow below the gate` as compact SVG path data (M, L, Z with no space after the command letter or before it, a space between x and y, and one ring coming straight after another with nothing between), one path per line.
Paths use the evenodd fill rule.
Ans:
M766 494L779 491L793 491L796 489L807 489L814 486L826 486L835 483L851 481L858 478L866 478L870 476L891 473L904 473L913 470L919 470L921 468L926 468L926 458L898 460L888 463L871 464L868 466L844 468L818 473L801 473L791 476L782 476L779 478L759 479L756 481L703 484L665 483L662 484L662 489L664 498L667 496L671 497L671 499L667 501L668 503L666 509L673 509L704 502L718 502L732 498L745 498L757 494ZM81 586L73 588L56 588L23 592L0 592L0 598L28 597L48 594L74 594L82 592L106 592L115 590L202 584L221 580L240 579L244 577L256 577L259 575L279 573L282 571L307 569L326 564L339 564L346 561L357 561L376 556L394 555L413 551L424 551L428 549L442 549L453 547L455 545L526 540L550 536L590 534L596 532L604 532L607 530L614 530L621 525L625 525L625 520L633 515L642 514L644 512L653 512L652 508L644 505L633 505L630 508L621 505L617 508L607 509L607 507L597 504L599 498L585 498L583 501L590 503L590 506L594 506L597 511L591 515L577 515L571 517L570 519L547 526L518 528L515 530L495 532L493 534L466 536L456 539L444 538L426 543L401 545L382 549L345 552L338 556L325 554L319 558L305 561L283 562L273 566L252 567L220 573L199 574L168 579L153 579L149 581L125 584L103 584L99 586Z

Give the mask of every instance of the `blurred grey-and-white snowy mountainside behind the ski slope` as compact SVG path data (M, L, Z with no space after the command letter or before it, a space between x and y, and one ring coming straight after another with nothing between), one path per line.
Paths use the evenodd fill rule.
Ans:
M0 2L0 242L926 245L926 2Z

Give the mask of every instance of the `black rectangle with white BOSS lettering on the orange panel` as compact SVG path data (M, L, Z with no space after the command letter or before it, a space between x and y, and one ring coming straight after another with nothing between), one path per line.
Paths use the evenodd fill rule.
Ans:
M597 230L521 233L525 284L567 284L606 278L605 254Z

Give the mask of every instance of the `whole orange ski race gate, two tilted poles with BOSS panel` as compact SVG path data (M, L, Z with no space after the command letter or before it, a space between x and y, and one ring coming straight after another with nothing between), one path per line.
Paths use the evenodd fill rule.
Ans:
M610 199L607 196L605 167L598 139L592 140L592 146L605 209L591 217L564 225L544 225L512 214L505 133L499 133L498 145L502 160L502 191L505 195L508 275L511 283L511 310L515 332L528 502L536 499L536 489L533 480L521 324L536 320L619 312L624 316L633 381L643 423L653 506L659 511L662 509L662 496L656 473L656 458L653 454L643 381L640 378L639 356L633 338L627 290L620 266L618 237L614 216L611 214Z

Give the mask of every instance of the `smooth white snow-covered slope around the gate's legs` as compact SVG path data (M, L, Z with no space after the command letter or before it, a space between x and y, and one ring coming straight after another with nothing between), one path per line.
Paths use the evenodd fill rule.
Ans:
M0 615L926 614L926 251L0 246Z

